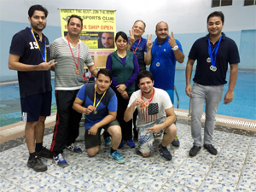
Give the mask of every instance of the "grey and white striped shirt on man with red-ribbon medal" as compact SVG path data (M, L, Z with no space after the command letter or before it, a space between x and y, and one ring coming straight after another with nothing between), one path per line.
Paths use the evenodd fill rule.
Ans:
M79 55L80 44L80 55ZM50 44L50 59L55 60L55 90L79 90L83 84L84 64L89 67L94 65L90 56L89 47L79 40L79 44L70 47L73 55L69 49L67 39L64 37L57 38ZM79 74L76 73L77 67L73 61L78 63L79 57Z

